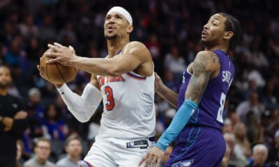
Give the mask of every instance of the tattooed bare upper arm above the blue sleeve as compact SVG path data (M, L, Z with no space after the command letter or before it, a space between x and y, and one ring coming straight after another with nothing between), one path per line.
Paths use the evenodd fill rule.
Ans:
M193 62L193 75L190 78L185 99L199 104L211 75L215 74L219 68L219 58L213 51L199 51Z

